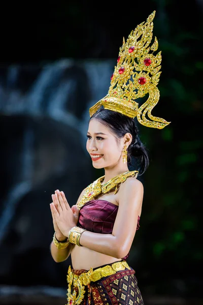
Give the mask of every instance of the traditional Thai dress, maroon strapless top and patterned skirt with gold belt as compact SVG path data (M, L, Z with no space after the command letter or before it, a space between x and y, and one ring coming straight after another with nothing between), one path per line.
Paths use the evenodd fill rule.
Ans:
M88 231L112 234L118 206L106 200L90 200L80 209L77 226ZM137 230L139 229L138 218ZM69 266L67 304L144 305L135 271L127 264L129 253L111 264L78 270Z

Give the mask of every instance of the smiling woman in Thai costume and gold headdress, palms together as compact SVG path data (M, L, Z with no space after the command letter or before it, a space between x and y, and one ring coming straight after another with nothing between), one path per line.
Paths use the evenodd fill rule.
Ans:
M62 191L52 195L51 254L56 262L70 255L72 260L67 304L144 304L135 271L126 259L142 212L144 189L137 176L149 165L133 118L158 129L169 124L151 115L159 99L156 84L161 60L160 54L149 54L146 43L146 37L152 37L154 15L123 42L108 95L89 111L86 148L93 167L104 168L105 175L85 188L72 207ZM155 40L151 50L157 47ZM133 99L146 93L149 98L139 108ZM133 157L138 168L130 171Z

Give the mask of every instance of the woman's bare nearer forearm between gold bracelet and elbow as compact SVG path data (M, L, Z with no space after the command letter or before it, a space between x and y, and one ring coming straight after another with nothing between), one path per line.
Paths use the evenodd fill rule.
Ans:
M80 245L90 250L121 258L121 247L116 236L84 231L80 236Z

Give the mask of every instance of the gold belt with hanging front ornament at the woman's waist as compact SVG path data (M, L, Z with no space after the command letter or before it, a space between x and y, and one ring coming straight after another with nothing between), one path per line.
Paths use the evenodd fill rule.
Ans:
M69 270L67 271L67 305L80 304L85 294L84 286L90 284L90 282L95 282L101 278L114 275L117 271L124 270L125 268L130 270L130 267L125 261L119 261L95 270L91 268L89 271L83 272L80 276L77 276L72 272L71 266L69 266ZM76 291L76 289L73 289L72 291L72 285L74 288L78 288L78 291Z

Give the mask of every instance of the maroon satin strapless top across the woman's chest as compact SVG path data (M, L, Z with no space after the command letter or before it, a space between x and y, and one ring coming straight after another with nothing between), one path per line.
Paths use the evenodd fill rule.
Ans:
M80 209L77 226L87 231L112 234L114 222L118 212L118 205L107 200L94 199L86 202ZM138 216L137 230L140 228ZM123 258L126 260L129 253Z

